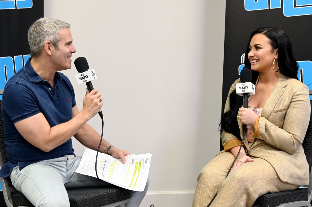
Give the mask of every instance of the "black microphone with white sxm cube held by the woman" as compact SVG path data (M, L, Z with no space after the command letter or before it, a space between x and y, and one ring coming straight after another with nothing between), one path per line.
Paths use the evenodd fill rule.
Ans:
M241 70L241 83L236 84L236 93L243 96L243 107L248 108L248 96L255 95L255 85L251 82L252 71L250 68L243 68ZM243 129L246 125L243 124Z

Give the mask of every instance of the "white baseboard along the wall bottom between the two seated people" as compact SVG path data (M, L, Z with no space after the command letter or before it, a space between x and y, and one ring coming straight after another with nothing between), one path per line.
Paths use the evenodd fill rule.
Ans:
M190 207L194 191L154 191L147 192L140 207ZM152 206L153 207L153 206Z

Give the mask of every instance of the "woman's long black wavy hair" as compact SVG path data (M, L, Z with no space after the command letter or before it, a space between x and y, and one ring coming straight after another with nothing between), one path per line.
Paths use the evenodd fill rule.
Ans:
M295 78L298 80L298 64L295 60L291 42L286 35L286 33L276 27L261 27L253 31L250 35L249 42L247 44L245 52L245 67L251 68L250 61L248 59L249 45L251 38L256 34L264 34L270 40L272 49L278 49L278 67L280 72L289 77ZM273 64L273 62L272 62ZM259 72L252 71L252 80L253 84L256 84L256 81L259 77ZM233 91L229 96L230 101L230 110L225 112L220 121L220 131L226 131L232 133L238 139L241 139L238 123L236 120L237 111L243 105L243 98L236 94L236 91Z

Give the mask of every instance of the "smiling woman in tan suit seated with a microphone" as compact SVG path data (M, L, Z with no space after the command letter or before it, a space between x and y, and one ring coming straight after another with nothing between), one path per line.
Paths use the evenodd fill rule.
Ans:
M309 183L301 146L310 119L309 89L297 78L285 32L274 27L252 32L245 66L252 70L256 95L243 108L236 94L240 80L232 84L220 122L224 151L199 174L193 207L206 207L212 200L211 207L252 206L263 194ZM246 137L230 169L243 138L242 124L247 125Z

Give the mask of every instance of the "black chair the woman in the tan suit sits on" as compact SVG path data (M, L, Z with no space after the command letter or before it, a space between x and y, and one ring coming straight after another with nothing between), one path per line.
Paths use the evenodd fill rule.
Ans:
M310 91L312 95L312 91ZM312 109L312 100L311 109ZM312 199L312 110L310 116L310 122L308 130L305 134L305 139L302 143L302 146L305 150L305 156L309 163L310 168L310 183L305 188L298 188L293 191L282 191L277 193L267 193L260 196L252 207L300 207L306 206L311 207Z

